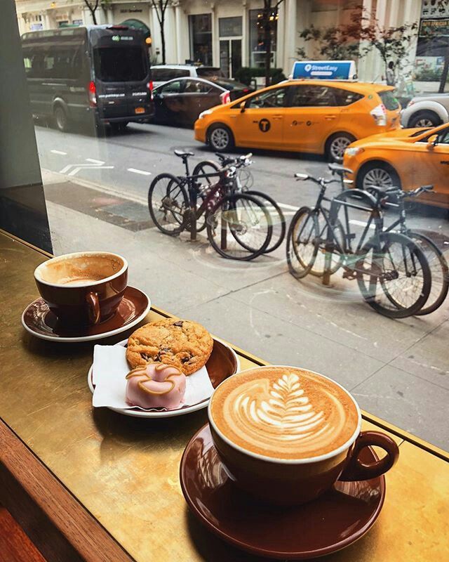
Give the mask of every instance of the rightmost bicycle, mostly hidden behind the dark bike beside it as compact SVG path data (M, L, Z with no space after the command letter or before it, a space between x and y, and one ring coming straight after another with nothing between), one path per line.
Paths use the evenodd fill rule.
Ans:
M408 228L406 224L406 205L405 200L409 197L418 197L421 193L432 192L433 185L422 185L413 191L404 192L401 188L382 188L372 185L368 188L368 192L373 191L379 203L386 207L396 207L399 211L399 217L391 223L386 232L391 232L396 227L398 231L415 242L426 256L431 271L431 289L427 303L418 311L417 315L430 314L436 311L445 301L449 290L449 267L448 262L443 256L443 252L438 246L426 235ZM393 199L393 201L391 201ZM396 202L395 202L396 201Z

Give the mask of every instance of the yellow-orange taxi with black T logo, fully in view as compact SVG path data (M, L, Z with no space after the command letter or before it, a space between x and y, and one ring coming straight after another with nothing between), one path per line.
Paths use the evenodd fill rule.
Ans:
M293 150L342 162L350 143L398 129L401 107L392 90L363 82L288 80L203 111L195 138L215 151Z

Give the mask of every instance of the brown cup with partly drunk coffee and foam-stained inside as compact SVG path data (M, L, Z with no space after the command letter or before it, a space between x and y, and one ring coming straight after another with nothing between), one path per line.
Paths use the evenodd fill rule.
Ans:
M128 262L106 251L80 251L44 261L34 270L42 298L64 327L112 318L128 284Z

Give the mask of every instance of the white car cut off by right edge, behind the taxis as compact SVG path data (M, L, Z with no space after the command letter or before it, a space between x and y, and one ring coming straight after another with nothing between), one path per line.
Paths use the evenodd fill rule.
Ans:
M415 96L401 112L404 127L434 127L449 122L449 93Z

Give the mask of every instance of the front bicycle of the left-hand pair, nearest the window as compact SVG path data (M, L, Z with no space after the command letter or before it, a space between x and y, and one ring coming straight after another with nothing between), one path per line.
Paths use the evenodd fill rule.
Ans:
M199 183L203 175L189 176L193 153L175 150L175 155L185 164L186 176L159 174L149 187L149 214L156 227L168 235L188 230L196 240L197 221L203 218L201 230L206 228L210 244L221 256L249 261L263 254L272 237L271 220L255 197L232 191L236 169L221 169L217 183L203 188Z

